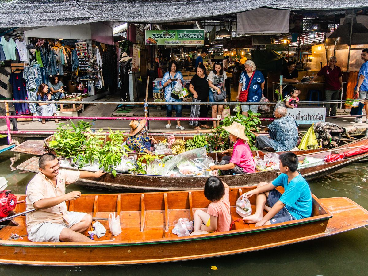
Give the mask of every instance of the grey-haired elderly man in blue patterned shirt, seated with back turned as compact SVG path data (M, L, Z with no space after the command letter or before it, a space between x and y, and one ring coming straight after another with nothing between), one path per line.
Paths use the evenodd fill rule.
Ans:
M268 125L270 137L256 134L257 148L273 148L275 151L291 151L298 141L298 123L292 116L286 116L286 107L276 109L272 123Z

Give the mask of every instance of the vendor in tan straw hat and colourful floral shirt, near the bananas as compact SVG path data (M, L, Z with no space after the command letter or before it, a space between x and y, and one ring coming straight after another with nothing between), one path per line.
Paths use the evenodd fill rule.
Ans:
M131 130L127 139L127 146L132 152L152 153L152 144L157 144L155 138L149 138L141 134L141 130L145 127L147 120L143 119L139 122L132 120L129 124ZM152 141L152 142L151 142Z

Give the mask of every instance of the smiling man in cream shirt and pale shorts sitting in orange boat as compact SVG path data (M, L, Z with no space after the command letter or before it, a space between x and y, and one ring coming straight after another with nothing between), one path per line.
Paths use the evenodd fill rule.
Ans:
M65 185L78 178L100 177L95 173L77 170L59 170L59 159L45 153L38 161L40 172L27 185L26 210L36 211L26 216L28 239L31 241L92 242L83 235L92 223L92 216L81 212L69 212L66 201L81 197L81 192L65 194Z

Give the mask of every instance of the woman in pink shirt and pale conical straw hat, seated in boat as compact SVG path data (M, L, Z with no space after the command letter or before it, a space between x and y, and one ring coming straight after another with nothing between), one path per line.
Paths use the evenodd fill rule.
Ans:
M223 153L232 152L233 155L224 156L219 166L210 166L211 170L221 170L221 175L254 173L255 162L245 135L244 125L234 122L228 127L222 127L229 132L229 139L234 143L233 149L227 149Z

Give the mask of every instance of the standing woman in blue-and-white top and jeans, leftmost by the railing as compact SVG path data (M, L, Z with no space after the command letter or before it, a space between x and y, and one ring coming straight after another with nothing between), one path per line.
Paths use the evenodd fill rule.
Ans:
M169 63L169 72L163 75L161 84L165 93L165 102L181 102L179 96L171 93L178 81L184 86L183 75L179 71L178 63L175 60L171 60ZM181 105L166 105L166 117L171 118L173 113L173 107L176 109L176 117L181 117ZM171 121L167 121L166 128L171 127ZM185 128L180 125L180 120L176 121L176 128L180 130L185 130Z

